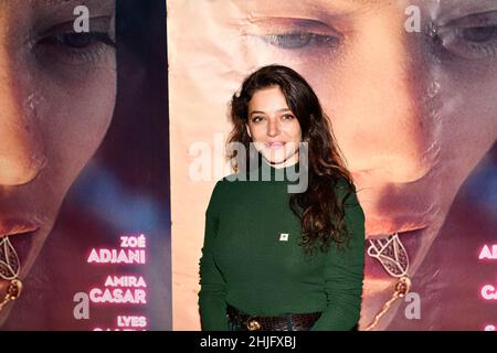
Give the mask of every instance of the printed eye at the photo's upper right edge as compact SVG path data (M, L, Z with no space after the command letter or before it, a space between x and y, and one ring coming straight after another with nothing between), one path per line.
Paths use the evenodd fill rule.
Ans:
M497 56L497 11L451 21L437 36L451 54L479 60Z

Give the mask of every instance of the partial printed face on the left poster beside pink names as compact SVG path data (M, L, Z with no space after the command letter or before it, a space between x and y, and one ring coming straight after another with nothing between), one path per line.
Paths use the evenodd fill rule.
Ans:
M81 4L89 11L87 33L74 30ZM19 255L21 279L110 122L114 7L114 0L0 1L0 236ZM0 279L0 296L6 287Z

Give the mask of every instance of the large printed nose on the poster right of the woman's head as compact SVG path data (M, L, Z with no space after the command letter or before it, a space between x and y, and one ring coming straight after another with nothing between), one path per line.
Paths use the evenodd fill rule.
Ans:
M424 83L426 67L412 52L402 31L384 28L361 43L378 43L363 51L353 75L346 77L349 94L343 104L345 150L352 174L384 182L413 182L433 167L438 152L435 141L436 119L432 119L433 100ZM374 34L372 34L374 33ZM369 45L369 44L368 44ZM349 78L349 79L347 79ZM338 103L341 104L341 103ZM337 124L339 125L339 124Z

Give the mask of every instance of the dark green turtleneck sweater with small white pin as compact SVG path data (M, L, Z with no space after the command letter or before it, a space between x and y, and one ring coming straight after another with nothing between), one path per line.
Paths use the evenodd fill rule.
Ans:
M200 259L203 330L229 330L228 303L254 315L322 312L311 330L350 330L357 324L364 259L362 208L352 192L345 201L349 247L331 245L327 253L305 255L298 245L300 222L288 204L290 168L269 168L271 181L229 181L240 178L233 174L216 183L205 212ZM337 197L343 200L349 188L339 180Z

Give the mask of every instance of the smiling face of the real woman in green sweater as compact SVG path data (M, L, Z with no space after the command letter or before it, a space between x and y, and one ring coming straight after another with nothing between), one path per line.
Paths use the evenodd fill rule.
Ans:
M298 161L300 124L278 86L256 90L248 101L246 129L255 149L275 168Z

